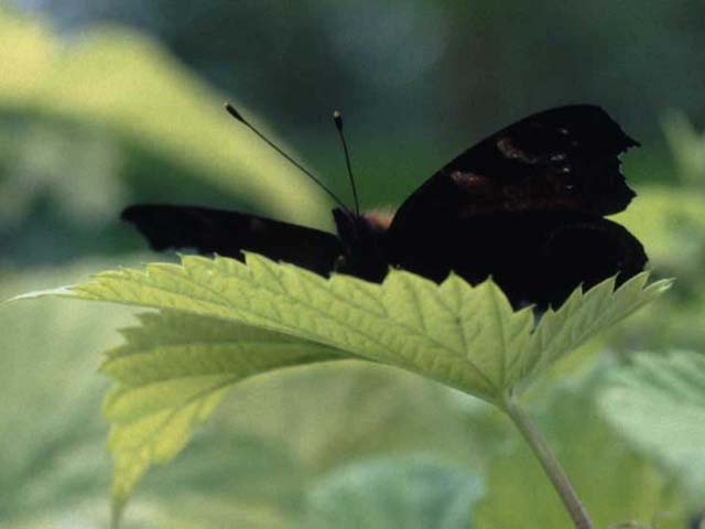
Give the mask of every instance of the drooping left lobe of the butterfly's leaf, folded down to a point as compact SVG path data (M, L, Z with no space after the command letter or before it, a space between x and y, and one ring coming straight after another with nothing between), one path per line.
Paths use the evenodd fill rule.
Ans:
M117 384L104 414L113 424L113 501L119 514L144 472L184 447L236 381L286 366L340 358L319 344L188 313L139 316L102 371Z

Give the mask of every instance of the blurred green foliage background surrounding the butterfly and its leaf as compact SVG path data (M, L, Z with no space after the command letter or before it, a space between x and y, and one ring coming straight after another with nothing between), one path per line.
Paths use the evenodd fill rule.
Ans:
M600 105L643 145L625 156L639 197L616 219L677 282L560 366L531 410L598 527L685 527L705 499L682 471L705 475L705 455L673 464L663 443L632 443L600 399L634 352L705 350L703 87L701 0L0 0L0 293L169 259L118 220L134 202L330 229L326 196L228 118L226 99L349 202L341 110L365 209L395 207L530 112ZM0 317L0 526L105 527L107 384L94 371L130 314L41 300ZM152 472L126 527L566 525L505 421L431 382L350 364L234 393Z

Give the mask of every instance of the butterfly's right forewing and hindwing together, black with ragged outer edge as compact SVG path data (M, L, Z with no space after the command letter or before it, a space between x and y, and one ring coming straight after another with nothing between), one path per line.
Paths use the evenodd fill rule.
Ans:
M601 218L634 193L619 154L637 142L598 107L539 112L470 148L399 208L390 263L437 281L490 274L514 305L558 303L578 284L643 268L641 244Z

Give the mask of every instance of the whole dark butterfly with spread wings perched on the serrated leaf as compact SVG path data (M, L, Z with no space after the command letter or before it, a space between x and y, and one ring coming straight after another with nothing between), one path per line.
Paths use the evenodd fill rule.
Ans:
M339 115L336 125L349 164ZM247 250L323 276L375 282L390 267L437 282L451 271L473 284L491 276L514 306L545 307L579 284L589 288L617 273L623 282L643 269L641 244L603 218L634 196L619 171L619 155L633 145L601 108L566 106L529 116L468 149L391 219L333 209L337 235L192 206L134 205L122 218L156 250L195 248L237 259Z

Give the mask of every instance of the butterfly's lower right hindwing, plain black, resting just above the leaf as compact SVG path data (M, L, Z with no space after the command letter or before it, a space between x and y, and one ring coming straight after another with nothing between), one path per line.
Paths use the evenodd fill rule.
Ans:
M512 305L557 306L577 288L639 273L647 256L626 228L603 217L567 212L478 215L435 237L397 249L392 263L436 282L452 271L471 284L489 277Z

